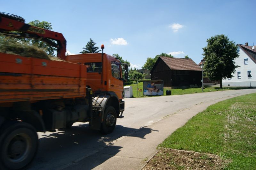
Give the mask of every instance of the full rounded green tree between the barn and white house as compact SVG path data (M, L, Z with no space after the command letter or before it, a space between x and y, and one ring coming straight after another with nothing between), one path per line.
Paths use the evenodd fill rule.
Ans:
M238 57L236 44L224 34L215 35L207 39L207 46L203 50L206 75L210 80L220 80L222 88L222 79L232 78L232 73L239 67L234 62Z

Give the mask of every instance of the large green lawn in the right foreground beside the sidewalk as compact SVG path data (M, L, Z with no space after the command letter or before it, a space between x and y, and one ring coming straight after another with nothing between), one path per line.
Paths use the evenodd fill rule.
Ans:
M256 169L256 93L216 103L191 118L159 147L217 154L226 169Z

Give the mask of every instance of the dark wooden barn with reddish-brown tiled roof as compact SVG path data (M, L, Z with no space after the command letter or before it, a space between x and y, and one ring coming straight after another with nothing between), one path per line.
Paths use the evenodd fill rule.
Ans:
M202 69L192 59L158 57L151 79L164 80L165 87L200 86Z

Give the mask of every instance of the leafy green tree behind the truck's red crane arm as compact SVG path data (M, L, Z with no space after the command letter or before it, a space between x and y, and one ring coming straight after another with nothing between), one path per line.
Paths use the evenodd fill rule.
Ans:
M42 21L40 22L39 20L31 21L28 23L31 26L36 26L38 28L43 28L46 30L52 30L52 24L50 22ZM57 48L52 47L51 45L47 44L44 41L39 41L35 39L22 39L21 41L26 41L29 42L31 45L35 45L39 48L44 48L46 49L46 52L48 55L54 56L54 51L57 50ZM51 40L54 42L54 40Z

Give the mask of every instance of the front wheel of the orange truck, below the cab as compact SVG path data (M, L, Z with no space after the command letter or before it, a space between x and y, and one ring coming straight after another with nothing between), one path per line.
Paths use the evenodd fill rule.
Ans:
M116 109L112 106L106 108L100 132L103 134L111 133L116 127Z

